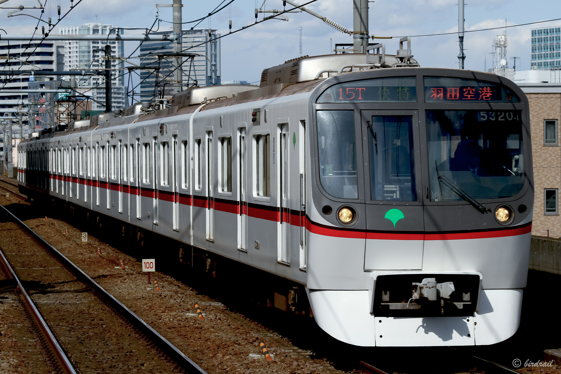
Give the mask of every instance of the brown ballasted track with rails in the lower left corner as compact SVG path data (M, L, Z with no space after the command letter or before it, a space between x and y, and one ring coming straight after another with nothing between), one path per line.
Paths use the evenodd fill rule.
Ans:
M0 221L2 290L25 306L48 364L37 372L205 373L4 207Z

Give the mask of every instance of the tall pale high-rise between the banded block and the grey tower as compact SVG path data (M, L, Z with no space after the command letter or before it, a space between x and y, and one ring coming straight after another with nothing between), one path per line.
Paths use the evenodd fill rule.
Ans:
M64 70L95 70L96 68L105 68L104 52L98 49L104 49L105 45L111 45L111 56L125 57L125 43L122 40L111 40L110 35L116 33L123 34L123 29L113 27L113 25L102 25L94 22L81 26L61 27L59 29L61 35L89 35L99 34L107 35L107 41L91 41L91 40L69 40L65 41L65 69ZM113 38L114 39L114 38ZM118 69L123 66L123 62L112 59L111 68ZM123 83L125 77L121 77L122 72L117 70L111 71L113 78L111 82L111 109L123 109L128 105L127 91ZM70 76L64 78L70 81ZM105 110L105 77L99 76L76 76L76 89L85 95L92 96L92 110Z

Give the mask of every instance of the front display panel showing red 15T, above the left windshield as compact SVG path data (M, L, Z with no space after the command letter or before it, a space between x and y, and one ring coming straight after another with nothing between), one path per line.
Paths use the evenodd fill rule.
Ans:
M417 101L415 77L350 81L325 90L316 103L401 103Z

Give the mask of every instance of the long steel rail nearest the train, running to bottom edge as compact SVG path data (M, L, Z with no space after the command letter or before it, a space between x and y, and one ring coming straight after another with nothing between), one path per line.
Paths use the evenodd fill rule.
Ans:
M103 287L96 283L95 280L91 279L90 276L80 267L76 266L72 261L68 260L68 258L63 255L61 252L54 248L49 242L45 241L43 237L39 234L34 232L31 228L29 228L25 223L23 223L19 218L17 218L13 213L6 209L6 207L2 206L2 209L5 211L8 216L11 216L12 219L27 233L29 233L41 246L43 246L47 251L50 252L58 261L62 262L68 269L70 269L76 276L81 278L82 281L90 284L91 287L99 292L103 297L114 307L123 317L125 317L132 325L134 325L137 329L142 331L153 343L157 344L157 347L163 350L164 353L169 355L177 364L181 366L187 373L199 373L199 374L207 374L203 369L201 369L195 362L193 362L190 358L188 358L181 350L177 349L172 343L170 343L167 339L165 339L162 335L158 333L158 331L154 330L150 325L148 325L144 320L142 320L139 316L137 316L134 312L132 312L129 308L127 308L123 303L117 300L111 293L107 292ZM2 213L2 210L0 210Z

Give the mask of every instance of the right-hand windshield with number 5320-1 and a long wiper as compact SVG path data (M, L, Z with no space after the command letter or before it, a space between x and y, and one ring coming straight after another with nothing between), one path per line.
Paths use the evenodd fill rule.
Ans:
M427 110L430 200L517 195L526 181L520 110ZM455 186L454 186L455 185Z

